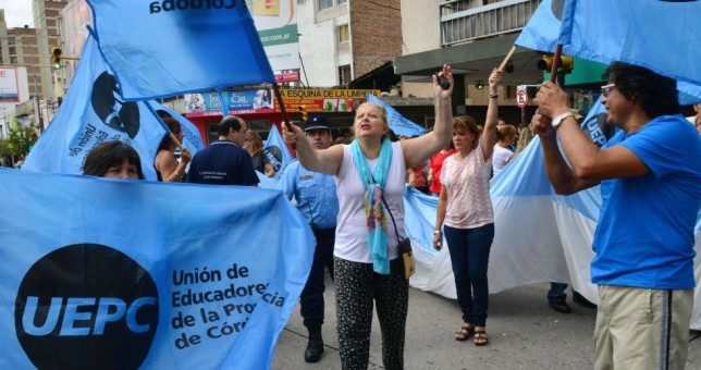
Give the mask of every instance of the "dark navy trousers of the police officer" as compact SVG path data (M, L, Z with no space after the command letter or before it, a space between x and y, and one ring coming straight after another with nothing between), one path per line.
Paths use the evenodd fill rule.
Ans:
M333 280L333 245L335 240L335 229L312 229L317 239L313 250L313 262L309 279L302 291L299 306L305 326L323 324L323 291L325 289L323 268L329 268L329 274Z

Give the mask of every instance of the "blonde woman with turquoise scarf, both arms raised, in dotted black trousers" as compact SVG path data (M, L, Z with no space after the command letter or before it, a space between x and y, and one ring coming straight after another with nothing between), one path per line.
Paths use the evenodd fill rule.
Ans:
M445 89L439 85L440 77L450 83L444 84ZM350 145L315 150L302 128L284 125L285 141L297 144L297 157L304 168L335 176L340 212L334 274L343 369L368 367L373 304L382 331L384 367L404 368L408 280L397 245L406 238L405 174L450 140L453 74L448 65L433 76L433 88L434 130L413 139L390 143L386 112L371 102L356 111L356 139Z

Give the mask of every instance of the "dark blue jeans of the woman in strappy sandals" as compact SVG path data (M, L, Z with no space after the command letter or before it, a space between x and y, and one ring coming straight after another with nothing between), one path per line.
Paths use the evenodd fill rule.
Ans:
M444 232L463 321L484 326L489 308L487 268L494 240L494 224L476 229L444 226Z

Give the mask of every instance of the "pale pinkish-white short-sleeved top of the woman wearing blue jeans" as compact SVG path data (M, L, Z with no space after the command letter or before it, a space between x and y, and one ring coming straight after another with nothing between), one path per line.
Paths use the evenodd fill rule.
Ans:
M447 190L444 224L456 229L475 229L494 222L489 195L490 161L484 161L477 147L462 160L455 153L443 162L441 183Z

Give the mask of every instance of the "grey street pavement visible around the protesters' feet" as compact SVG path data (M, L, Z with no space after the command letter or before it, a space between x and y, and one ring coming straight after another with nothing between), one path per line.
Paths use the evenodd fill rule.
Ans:
M571 301L573 312L558 313L548 307L550 284L534 284L490 296L487 331L489 345L476 347L472 341L453 338L459 329L457 300L409 288L409 313L404 350L405 368L411 369L591 369L597 310ZM333 283L327 276L324 353L317 363L304 361L307 330L299 305L275 347L273 370L341 369L336 335ZM374 316L369 369L384 369L380 325ZM701 370L701 333L692 332L687 369Z

